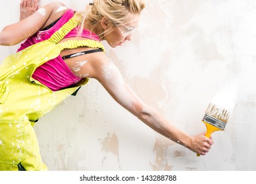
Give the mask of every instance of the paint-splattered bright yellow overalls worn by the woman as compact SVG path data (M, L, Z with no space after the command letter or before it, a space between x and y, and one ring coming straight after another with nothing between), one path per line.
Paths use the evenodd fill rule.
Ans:
M5 58L0 66L0 170L47 170L39 154L38 140L32 127L38 118L74 93L88 79L76 86L51 91L33 80L36 68L59 56L63 49L101 48L91 39L59 43L75 28L81 18L74 15L49 39Z

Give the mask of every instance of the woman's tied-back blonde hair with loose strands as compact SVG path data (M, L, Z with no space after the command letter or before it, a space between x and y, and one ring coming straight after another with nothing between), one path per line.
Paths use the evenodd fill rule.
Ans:
M130 21L131 14L140 14L144 8L143 0L94 0L85 12L79 12L84 17L80 27L84 27L86 20L90 22L92 31L104 16L115 25L125 24Z

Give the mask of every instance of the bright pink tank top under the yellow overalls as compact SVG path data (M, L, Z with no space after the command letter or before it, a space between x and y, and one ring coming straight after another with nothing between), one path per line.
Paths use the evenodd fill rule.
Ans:
M35 43L49 39L61 26L63 26L70 18L74 16L74 11L68 9L64 12L63 16L58 20L58 22L49 28L48 30L39 31L37 34L32 35L24 43L21 44L18 51L29 47ZM77 28L71 30L64 38L66 37L76 37L78 33ZM99 41L99 37L96 34L89 32L88 30L83 30L81 37L88 39L93 39ZM74 75L74 73L68 68L63 58L59 55L57 58L49 60L36 68L34 74L32 75L34 80L38 80L43 85L49 87L52 91L58 91L65 87L69 87L78 83L82 78Z

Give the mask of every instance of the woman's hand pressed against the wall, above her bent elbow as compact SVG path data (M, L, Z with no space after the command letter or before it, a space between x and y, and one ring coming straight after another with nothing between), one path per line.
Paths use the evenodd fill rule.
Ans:
M34 12L38 11L39 0L21 0L20 1L20 20L27 18L32 15Z

